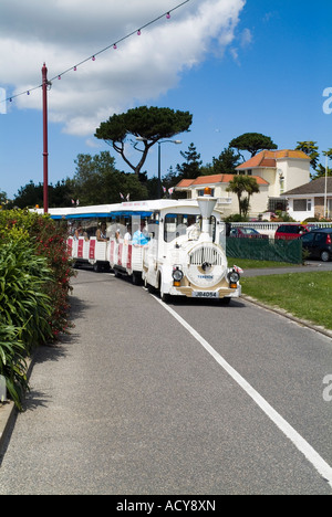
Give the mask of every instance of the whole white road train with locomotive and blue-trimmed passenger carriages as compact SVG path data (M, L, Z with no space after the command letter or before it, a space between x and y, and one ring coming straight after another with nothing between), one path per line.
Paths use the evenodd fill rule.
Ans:
M226 226L215 204L206 191L195 201L50 209L50 215L68 220L77 266L111 267L116 276L158 291L163 300L187 296L227 304L241 295L241 270L227 265Z

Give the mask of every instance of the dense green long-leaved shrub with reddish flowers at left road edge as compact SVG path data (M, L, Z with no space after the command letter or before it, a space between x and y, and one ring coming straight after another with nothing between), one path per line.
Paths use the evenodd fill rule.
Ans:
M22 357L68 331L72 275L64 226L0 211L0 374L18 407L27 387Z

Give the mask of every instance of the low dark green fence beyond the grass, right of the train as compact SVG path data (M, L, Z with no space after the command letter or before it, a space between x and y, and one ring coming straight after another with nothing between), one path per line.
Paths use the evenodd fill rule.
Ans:
M302 264L302 241L227 238L226 253L232 258Z

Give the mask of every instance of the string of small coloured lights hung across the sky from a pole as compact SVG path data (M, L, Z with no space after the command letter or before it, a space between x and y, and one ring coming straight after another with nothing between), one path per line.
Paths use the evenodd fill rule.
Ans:
M181 8L183 6L185 6L185 3L188 3L190 0L185 0L183 1L181 3L179 3L178 6L174 7L173 9L169 9L168 11L164 12L163 14L160 14L159 17L155 18L154 20L151 20L149 22L145 23L144 25L141 25L139 29L135 29L133 32L126 34L125 36L121 38L120 40L111 43L110 45L105 46L104 49L95 52L94 54L90 55L89 57L85 57L84 60L80 61L79 63L76 63L75 65L71 66L70 68L66 68L64 70L63 72L61 72L60 74L56 74L54 75L54 77L50 78L48 81L48 84L51 86L51 83L55 80L61 80L65 74L70 73L70 72L76 72L79 66L82 66L84 63L87 63L89 61L96 61L96 56L106 52L107 50L110 49L113 49L113 50L117 50L118 49L118 45L127 40L128 38L132 38L134 34L136 35L142 35L142 32L144 29L148 28L149 25L153 25L154 23L156 23L157 21L162 20L162 19L167 19L169 20L172 17L170 17L170 13L176 11L177 9ZM1 103L6 103L6 102L10 102L12 103L14 98L17 97L20 97L22 95L30 95L31 92L35 91L35 89L39 89L39 88L42 88L42 84L38 85L38 86L34 86L32 88L29 88L29 89L25 89L24 92L21 92L21 93L18 93L15 95L11 95L7 98L4 98L3 101L1 101Z

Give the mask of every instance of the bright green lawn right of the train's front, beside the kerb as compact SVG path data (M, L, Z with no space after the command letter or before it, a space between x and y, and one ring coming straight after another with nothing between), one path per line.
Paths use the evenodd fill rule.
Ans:
M332 272L241 277L242 292L315 325L332 329Z

